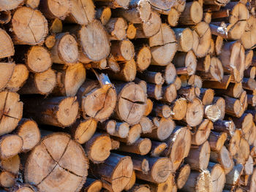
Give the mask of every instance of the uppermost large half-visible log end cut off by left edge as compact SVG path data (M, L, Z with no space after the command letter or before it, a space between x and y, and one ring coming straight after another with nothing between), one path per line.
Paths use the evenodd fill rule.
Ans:
M0 46L0 58L6 58L14 55L15 51L12 44L12 39L7 34L7 32L1 28L0 28L0 41L3 42L2 45Z

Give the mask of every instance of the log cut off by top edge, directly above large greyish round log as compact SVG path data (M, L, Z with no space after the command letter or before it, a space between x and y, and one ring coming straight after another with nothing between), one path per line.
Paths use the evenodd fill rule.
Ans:
M66 21L69 23L78 23L88 25L94 20L94 2L89 0L70 0L71 9Z

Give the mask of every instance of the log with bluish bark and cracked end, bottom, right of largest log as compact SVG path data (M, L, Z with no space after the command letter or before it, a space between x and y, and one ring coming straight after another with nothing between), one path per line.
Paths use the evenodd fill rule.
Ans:
M100 178L108 191L122 191L132 177L132 160L129 156L111 153L104 164L90 167L91 174Z

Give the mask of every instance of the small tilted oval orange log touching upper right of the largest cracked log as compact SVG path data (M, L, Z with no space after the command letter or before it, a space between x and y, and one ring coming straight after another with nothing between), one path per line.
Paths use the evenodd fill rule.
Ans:
M84 144L91 139L96 128L97 120L94 120L94 118L86 118L84 120L76 120L75 123L69 127L69 132L76 142Z

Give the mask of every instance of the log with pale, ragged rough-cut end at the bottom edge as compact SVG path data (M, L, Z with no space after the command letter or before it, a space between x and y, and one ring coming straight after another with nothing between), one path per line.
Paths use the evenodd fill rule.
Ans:
M213 191L211 174L208 170L202 172L191 172L187 183L182 188L185 192Z

